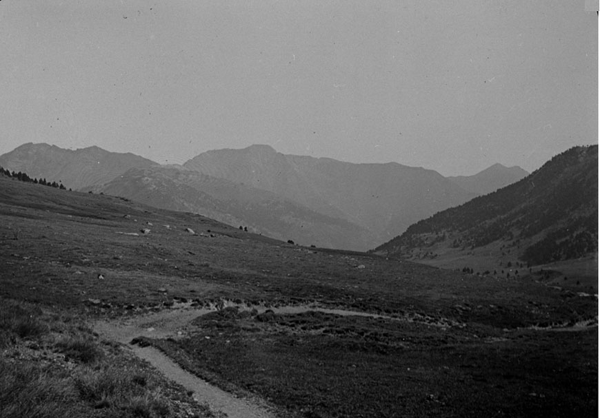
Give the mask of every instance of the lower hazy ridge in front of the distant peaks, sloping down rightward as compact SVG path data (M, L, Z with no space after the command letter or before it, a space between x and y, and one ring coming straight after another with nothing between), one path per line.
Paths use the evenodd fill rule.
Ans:
M200 213L307 246L357 250L374 240L369 231L346 220L317 213L269 191L181 167L130 169L92 190L161 209Z

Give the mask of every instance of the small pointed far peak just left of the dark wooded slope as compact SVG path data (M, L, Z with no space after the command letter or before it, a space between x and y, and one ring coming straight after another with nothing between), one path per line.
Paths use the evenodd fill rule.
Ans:
M528 174L521 167L505 167L501 164L494 164L473 176L454 176L448 177L448 179L471 193L488 194L517 182Z

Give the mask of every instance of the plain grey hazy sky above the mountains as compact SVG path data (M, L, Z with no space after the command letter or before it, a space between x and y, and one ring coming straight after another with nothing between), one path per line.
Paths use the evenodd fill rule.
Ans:
M0 154L98 145L528 171L598 143L585 1L0 2Z

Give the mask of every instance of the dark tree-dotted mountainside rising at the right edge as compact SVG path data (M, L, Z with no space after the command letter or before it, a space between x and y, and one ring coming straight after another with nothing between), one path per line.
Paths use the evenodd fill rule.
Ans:
M528 264L597 251L598 146L574 147L526 178L412 224L374 249L405 258L487 252Z

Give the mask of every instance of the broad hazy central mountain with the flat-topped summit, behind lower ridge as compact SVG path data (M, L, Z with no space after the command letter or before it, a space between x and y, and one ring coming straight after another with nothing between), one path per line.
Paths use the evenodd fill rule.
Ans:
M477 196L433 170L284 155L268 145L208 151L184 167L271 191L319 213L359 224L380 240Z

